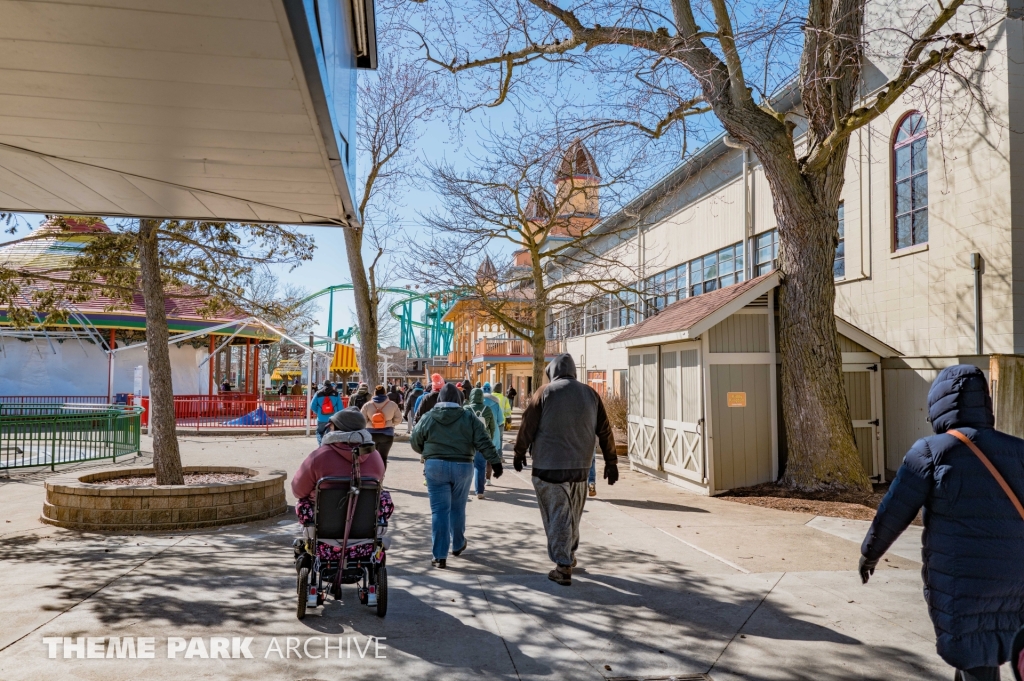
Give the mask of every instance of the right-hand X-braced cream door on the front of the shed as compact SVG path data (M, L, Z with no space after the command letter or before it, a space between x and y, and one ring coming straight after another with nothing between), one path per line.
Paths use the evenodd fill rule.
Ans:
M705 478L700 344L662 349L662 468L697 483Z

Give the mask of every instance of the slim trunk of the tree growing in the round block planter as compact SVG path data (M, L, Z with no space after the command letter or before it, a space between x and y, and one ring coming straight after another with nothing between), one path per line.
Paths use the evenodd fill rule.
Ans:
M174 432L174 388L171 353L167 344L167 310L160 278L159 220L140 220L138 260L142 299L145 301L145 340L150 365L150 432L153 434L153 468L157 484L184 484L181 453Z

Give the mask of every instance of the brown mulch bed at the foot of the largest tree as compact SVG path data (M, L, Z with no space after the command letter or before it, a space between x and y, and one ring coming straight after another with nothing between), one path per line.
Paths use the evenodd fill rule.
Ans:
M874 511L889 490L889 483L874 484L871 492L804 492L765 482L753 487L730 490L719 496L730 502L774 508L780 511L813 513L830 518L849 520L872 520ZM913 520L921 524L921 515Z

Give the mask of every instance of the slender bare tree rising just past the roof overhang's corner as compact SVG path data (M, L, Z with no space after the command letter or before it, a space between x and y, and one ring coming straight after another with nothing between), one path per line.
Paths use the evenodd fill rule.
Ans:
M362 380L374 385L382 331L381 289L391 279L388 247L398 231L394 212L400 203L398 190L414 175L413 145L421 125L434 115L437 84L422 65L393 56L382 57L377 72L364 78L357 123L359 154L367 167L358 206L364 226L345 229L345 252L359 328L359 368Z

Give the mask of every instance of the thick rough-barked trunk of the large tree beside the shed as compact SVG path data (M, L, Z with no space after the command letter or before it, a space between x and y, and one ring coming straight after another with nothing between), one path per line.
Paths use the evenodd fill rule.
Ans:
M772 183L781 270L779 352L788 459L785 482L802 488L870 488L854 444L836 330L833 262L843 186ZM837 178L838 177L838 178Z

